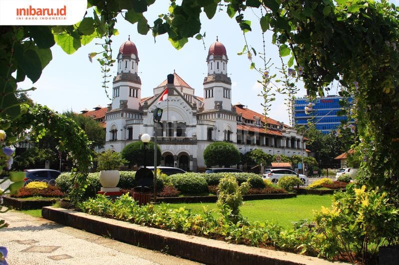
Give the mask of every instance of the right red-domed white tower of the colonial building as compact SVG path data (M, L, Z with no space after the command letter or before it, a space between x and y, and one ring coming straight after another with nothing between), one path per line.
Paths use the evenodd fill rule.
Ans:
M226 48L216 38L206 57L208 75L203 80L204 110L231 110L231 80L227 77L227 61Z

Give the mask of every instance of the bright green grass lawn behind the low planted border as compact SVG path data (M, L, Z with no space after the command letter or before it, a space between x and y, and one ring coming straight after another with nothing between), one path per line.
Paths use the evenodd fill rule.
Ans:
M291 222L301 219L313 220L313 210L320 210L321 206L331 206L332 195L298 195L296 198L274 200L244 201L240 207L241 214L249 221L269 220L284 227L291 227ZM202 211L208 205L215 209L215 203L172 203L173 207L191 208L194 213Z

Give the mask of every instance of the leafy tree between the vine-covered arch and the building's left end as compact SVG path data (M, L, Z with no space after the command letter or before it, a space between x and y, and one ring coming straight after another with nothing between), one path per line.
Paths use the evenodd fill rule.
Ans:
M80 128L86 133L87 138L92 142L92 148L102 148L105 144L105 130L97 121L90 117L83 116L81 114L74 113L72 111L66 111L63 115L71 118L75 121Z

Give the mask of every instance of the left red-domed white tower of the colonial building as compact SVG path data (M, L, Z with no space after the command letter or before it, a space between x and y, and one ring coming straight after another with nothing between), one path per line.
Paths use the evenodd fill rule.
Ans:
M112 89L112 109L121 105L139 109L141 80L138 76L139 57L136 45L130 41L122 43L118 53L118 72L114 77Z

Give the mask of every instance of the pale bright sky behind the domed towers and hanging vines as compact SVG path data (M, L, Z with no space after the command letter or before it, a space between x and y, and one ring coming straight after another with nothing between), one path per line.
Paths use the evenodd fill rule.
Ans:
M399 0L391 2L398 4ZM169 1L166 0L156 1L144 13L150 25L151 21L158 18L159 14L167 12L168 3ZM245 13L245 18L252 21L252 31L246 33L246 40L248 46L253 47L257 53L263 53L263 40L258 19L260 15L260 11L256 8L247 10ZM216 11L211 20L202 14L201 22L200 33L205 32L205 48L202 41L192 38L181 50L176 50L169 42L167 34L158 36L154 42L151 31L147 35L141 35L137 33L137 23L132 25L123 17L118 17L116 28L119 30L119 35L112 37L113 56L116 58L120 45L130 35L130 40L135 43L140 59L138 74L142 82L142 97L153 95L153 88L161 84L174 70L187 84L195 88L195 95L202 97L203 78L207 73L205 60L209 46L217 36L227 51L227 73L232 82L232 104L239 101L248 108L263 113L261 106L263 98L258 96L261 87L257 83L261 76L255 70L250 70L250 61L246 55L237 55L242 51L245 40L235 19L230 19L225 10L222 10ZM85 108L92 110L97 105L107 106L111 100L107 98L104 88L102 88L100 64L96 60L91 63L88 59L89 53L101 51L101 47L96 45L101 42L100 39L94 39L90 44L80 47L72 55L66 54L58 45L54 45L51 48L53 59L43 70L40 79L33 85L26 79L24 82L18 83L18 88L26 89L34 86L37 89L29 92L33 101L47 105L58 112L65 110L80 112ZM265 44L266 58L271 58L271 62L279 67L278 50L271 43L270 32L265 34ZM263 64L259 55L253 57L253 60L256 66ZM112 76L116 75L116 71L117 64L110 72ZM277 73L277 70L273 66L270 69L270 74L274 73ZM108 94L112 94L112 78L109 88L107 88ZM298 84L298 88L300 91L297 93L297 97L306 94L301 83ZM331 90L330 94L337 94L337 91ZM286 108L284 95L276 93L276 100L272 102L268 116L289 124Z

